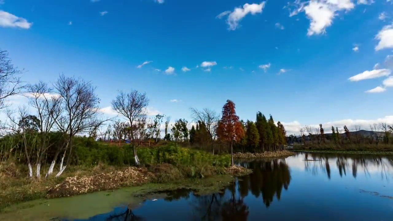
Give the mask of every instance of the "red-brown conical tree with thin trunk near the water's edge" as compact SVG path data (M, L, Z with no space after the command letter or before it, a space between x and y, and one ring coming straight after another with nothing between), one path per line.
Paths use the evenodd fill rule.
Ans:
M230 142L231 144L231 162L233 165L233 141L239 141L244 136L242 123L239 122L239 116L236 115L235 103L227 100L222 107L222 117L217 128L217 135L220 140Z

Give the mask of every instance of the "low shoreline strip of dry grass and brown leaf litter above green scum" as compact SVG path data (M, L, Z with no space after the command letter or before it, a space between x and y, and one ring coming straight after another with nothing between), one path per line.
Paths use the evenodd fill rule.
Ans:
M0 201L0 217L3 211L7 208L17 206L19 204L29 203L35 200L50 200L74 197L77 195L85 195L94 192L116 191L122 188L138 188L146 185L162 185L167 186L167 190L176 188L191 188L198 189L202 186L204 189L215 186L215 182L208 182L214 180L219 176L230 176L231 179L246 175L252 172L241 166L230 166L228 168L209 167L203 172L193 171L194 177L188 177L185 168L177 168L172 164L158 164L146 167L127 167L111 172L95 173L93 175L83 176L68 176L53 186L46 186L48 180L35 180L31 182L37 186L31 186L30 189L17 189L17 194L24 195L21 199L15 199L14 189L4 190L2 194L2 201ZM205 178L206 177L206 178ZM162 187L160 187L162 188ZM160 189L165 190L165 189Z

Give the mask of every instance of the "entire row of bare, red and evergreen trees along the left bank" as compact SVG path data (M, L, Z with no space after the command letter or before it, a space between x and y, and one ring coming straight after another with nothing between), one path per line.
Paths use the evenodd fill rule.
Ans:
M212 154L217 146L220 152L233 153L233 148L239 147L242 151L275 151L285 144L285 129L281 123L276 125L272 116L266 120L260 112L255 123L239 121L235 104L230 100L221 114L207 108L191 109L196 127L188 129L187 120L178 119L169 130L170 116L165 122L163 114L148 118L146 93L133 89L119 91L111 107L122 119L107 118L100 112L97 88L90 81L60 74L53 83L29 84L22 82L22 73L13 66L8 53L0 50L0 109L7 118L1 122L0 157L2 162L9 158L26 162L29 177L33 177L33 165L37 168L35 176L41 176L42 161L45 158L46 162L48 156L51 164L45 177L53 173L56 164L59 164L59 172L55 176L60 176L71 163L75 136L81 135L129 142L137 165L140 160L136 149L143 141L172 140L199 145ZM6 99L13 95L25 96L28 103L11 109Z

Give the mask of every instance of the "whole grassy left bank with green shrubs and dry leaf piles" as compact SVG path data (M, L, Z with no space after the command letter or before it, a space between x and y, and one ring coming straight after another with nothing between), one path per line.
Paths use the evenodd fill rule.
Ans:
M105 151L105 148L103 150ZM97 156L105 159L105 156L95 149L89 151L98 153ZM152 183L181 184L184 180L201 183L200 180L216 175L240 175L249 172L245 168L229 167L230 155L211 155L182 147L140 148L138 155L142 163L139 168L124 164L111 166L101 163L88 166L89 164L80 163L70 165L61 177L40 180L26 177L26 165L3 162L0 165L0 210L34 199L66 197ZM89 162L95 160L93 154L87 156Z

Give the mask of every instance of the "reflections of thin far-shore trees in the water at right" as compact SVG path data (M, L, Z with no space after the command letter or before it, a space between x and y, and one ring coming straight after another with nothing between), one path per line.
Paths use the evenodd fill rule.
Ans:
M298 156L304 157L306 171L317 175L321 170L327 174L328 179L331 179L332 166L329 162L334 161L340 177L347 176L351 170L354 178L357 177L359 171L362 171L365 176L370 176L370 169L373 169L373 172L376 169L382 179L389 179L389 174L393 169L393 158L380 155L302 153Z

